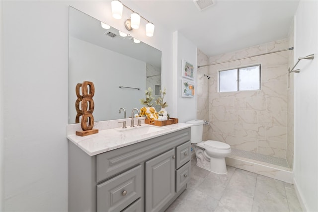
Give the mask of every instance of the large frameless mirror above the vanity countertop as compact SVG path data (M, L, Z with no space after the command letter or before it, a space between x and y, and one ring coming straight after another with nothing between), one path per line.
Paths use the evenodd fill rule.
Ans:
M161 51L134 38L122 37L113 27L70 7L69 17L69 124L76 119L75 88L91 81L95 86L94 121L127 118L152 87L161 89ZM109 27L109 29L107 29ZM154 106L156 106L154 104ZM156 108L160 110L160 108Z

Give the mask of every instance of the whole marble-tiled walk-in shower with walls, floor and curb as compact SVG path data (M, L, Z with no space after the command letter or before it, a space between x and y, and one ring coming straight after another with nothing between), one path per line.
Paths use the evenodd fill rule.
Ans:
M197 65L206 65L293 46L288 38L208 58L200 50ZM209 120L203 140L231 145L227 164L292 183L294 95L293 51L285 51L197 69L197 119ZM261 90L218 92L218 71L261 64ZM204 76L211 76L210 79Z

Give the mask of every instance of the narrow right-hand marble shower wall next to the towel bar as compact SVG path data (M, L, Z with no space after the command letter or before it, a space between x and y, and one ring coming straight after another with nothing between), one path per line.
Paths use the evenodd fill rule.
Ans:
M292 21L288 33L288 46L294 46L294 21ZM288 67L294 67L294 51L288 51ZM290 168L294 165L294 75L288 74L287 83L287 152L286 159Z

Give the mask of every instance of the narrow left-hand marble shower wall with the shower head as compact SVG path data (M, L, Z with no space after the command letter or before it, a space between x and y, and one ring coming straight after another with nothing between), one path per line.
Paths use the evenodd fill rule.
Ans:
M209 64L209 57L200 50L197 50L197 65ZM196 89L197 89L197 119L209 120L209 81L204 74L209 75L209 67L197 69ZM203 126L203 141L207 141L209 137L209 125Z

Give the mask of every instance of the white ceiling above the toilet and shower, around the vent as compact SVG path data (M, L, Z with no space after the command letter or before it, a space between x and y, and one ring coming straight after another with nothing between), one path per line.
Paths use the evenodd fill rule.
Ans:
M134 0L133 4L147 11L150 17L141 15L151 18L155 34L156 24L177 30L207 56L214 56L287 38L299 3L299 0L213 1L213 6L201 11L193 0Z

